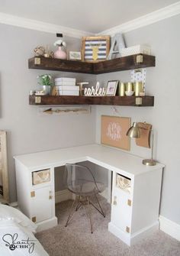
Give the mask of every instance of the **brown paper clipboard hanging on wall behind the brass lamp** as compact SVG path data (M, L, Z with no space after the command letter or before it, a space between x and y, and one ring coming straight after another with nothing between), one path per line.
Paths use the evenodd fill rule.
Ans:
M140 138L136 138L136 144L140 147L150 147L150 131L152 125L146 123L138 123L140 128Z

